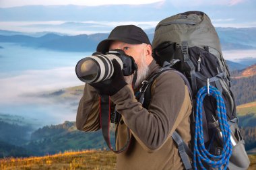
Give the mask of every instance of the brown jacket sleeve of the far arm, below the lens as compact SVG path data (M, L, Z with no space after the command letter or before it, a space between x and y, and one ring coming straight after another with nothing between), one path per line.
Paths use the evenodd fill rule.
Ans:
M100 95L94 87L86 84L84 95L79 101L76 126L78 130L96 131L100 129Z

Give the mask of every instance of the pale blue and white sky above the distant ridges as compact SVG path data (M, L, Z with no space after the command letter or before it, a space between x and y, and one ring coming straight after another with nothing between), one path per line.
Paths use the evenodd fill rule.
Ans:
M215 27L251 28L256 27L255 9L255 0L0 0L0 30L77 35L107 33L123 24L145 30L165 17L195 10L207 13Z

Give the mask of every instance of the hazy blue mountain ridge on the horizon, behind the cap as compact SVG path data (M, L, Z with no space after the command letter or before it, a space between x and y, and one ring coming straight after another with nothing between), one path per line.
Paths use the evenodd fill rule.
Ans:
M253 40L254 36L252 36L256 35L256 28L216 28L216 30L220 37L222 50L256 49L256 43ZM146 32L152 42L154 30L148 29ZM66 52L95 51L98 43L107 37L108 34L106 33L77 36L65 36L51 33L40 37L32 37L26 35L5 36L3 34L1 35L0 32L0 42L13 42L34 48L46 48Z

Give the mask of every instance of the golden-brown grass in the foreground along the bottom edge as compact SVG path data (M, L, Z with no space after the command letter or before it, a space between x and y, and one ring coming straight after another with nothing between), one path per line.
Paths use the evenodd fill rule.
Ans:
M249 155L249 170L256 169L256 155ZM80 170L80 169L115 169L116 156L111 151L79 151L65 152L44 157L28 157L24 159L0 159L1 170Z

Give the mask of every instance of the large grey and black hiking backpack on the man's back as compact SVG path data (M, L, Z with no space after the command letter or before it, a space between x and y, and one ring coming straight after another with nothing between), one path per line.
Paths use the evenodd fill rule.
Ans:
M143 89L144 93L141 103L143 103L143 107L147 108L150 103L151 82L163 73L164 70L173 71L173 69L176 69L180 72L179 75L184 75L187 78L189 83L186 84L191 86L191 99L194 108L193 114L191 114L191 138L193 138L195 135L195 108L198 104L196 95L199 89L207 87L208 95L203 99L201 106L203 113L201 118L203 138L202 134L199 137L203 141L203 147L205 146L205 149L214 155L212 160L216 161L220 160L220 157L222 157L222 154L227 149L226 145L222 145L218 140L222 140L222 142L223 140L230 141L230 143L232 142L232 155L229 155L229 163L226 166L229 169L247 169L249 167L249 159L245 152L245 142L238 128L236 104L230 90L230 72L222 56L220 40L210 18L201 11L187 11L163 19L156 26L152 48L153 57L162 69L153 76L154 78L150 77L150 81L146 81L150 82L147 83L146 87L142 85L141 89ZM216 89L223 99L223 107L226 108L225 116L229 124L227 131L230 132L230 140L222 136L225 132L220 131L222 120L218 120L216 112L218 110L216 102L218 101L215 97L209 95L209 87ZM213 89L210 90L213 91ZM195 148L195 142L191 140L191 146L189 147L185 146L184 142L181 142L181 137L176 137L175 140L175 137L172 135L172 138L175 142L178 141L177 144L182 161L187 160L183 159L184 154L182 155L182 153L185 151L187 155L191 156L191 151ZM182 151L180 151L180 148ZM193 155L195 155L195 151ZM204 160L203 163L195 164L196 161L197 158L194 157L194 169L203 169L203 167L216 169L215 165L209 164L211 160ZM187 165L187 161L183 161L183 163L186 169L191 169L191 166ZM226 169L224 165L222 168Z

